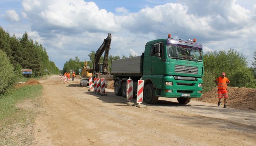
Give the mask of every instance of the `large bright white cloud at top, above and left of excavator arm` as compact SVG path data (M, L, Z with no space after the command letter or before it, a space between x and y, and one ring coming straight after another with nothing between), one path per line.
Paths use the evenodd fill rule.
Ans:
M114 14L105 9L99 9L94 2L83 0L34 2L24 0L22 6L27 17L38 22L37 24L32 23L32 29L39 27L46 31L57 30L78 34L84 30L107 32L120 28L114 20Z

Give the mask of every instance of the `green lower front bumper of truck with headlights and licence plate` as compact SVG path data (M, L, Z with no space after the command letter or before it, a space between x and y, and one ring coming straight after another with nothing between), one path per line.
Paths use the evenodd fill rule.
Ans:
M166 85L165 82L172 82L172 85ZM197 81L188 81L175 80L174 76L164 76L162 97L200 98L202 96L203 88L198 87L199 83L203 83L202 78L197 78Z

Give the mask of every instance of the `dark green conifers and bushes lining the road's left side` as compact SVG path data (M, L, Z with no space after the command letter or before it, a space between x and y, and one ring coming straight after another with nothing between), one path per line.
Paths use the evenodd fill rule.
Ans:
M0 27L0 51L0 94L22 77L21 69L32 69L32 77L46 75L44 69L48 73L59 74L57 66L49 60L46 48L34 42L26 32L17 38Z

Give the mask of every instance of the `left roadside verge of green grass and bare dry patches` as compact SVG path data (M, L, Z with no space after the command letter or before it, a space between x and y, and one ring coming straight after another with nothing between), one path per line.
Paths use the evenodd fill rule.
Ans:
M0 145L33 145L42 88L40 84L27 85L0 97Z

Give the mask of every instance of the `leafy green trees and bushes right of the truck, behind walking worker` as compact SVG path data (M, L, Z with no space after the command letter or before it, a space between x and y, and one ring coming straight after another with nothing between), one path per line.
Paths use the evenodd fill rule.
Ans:
M204 77L203 92L216 87L214 80L222 72L229 78L231 87L256 88L256 51L253 67L247 67L248 62L243 53L229 49L228 51L206 52L203 56Z

